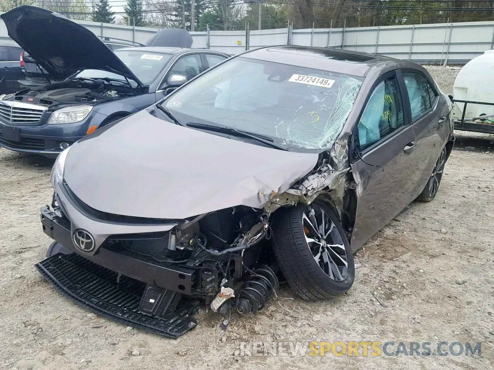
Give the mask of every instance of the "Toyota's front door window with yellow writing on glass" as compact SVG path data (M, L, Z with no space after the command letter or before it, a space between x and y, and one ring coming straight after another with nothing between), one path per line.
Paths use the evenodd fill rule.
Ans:
M403 102L396 78L382 81L371 98L358 124L361 149L391 134L404 124Z

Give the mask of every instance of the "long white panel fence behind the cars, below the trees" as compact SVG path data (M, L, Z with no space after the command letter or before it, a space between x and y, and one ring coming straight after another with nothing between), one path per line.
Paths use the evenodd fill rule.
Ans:
M97 36L146 43L155 28L78 21ZM41 30L42 32L42 30ZM464 63L494 48L494 21L428 25L292 30L192 32L193 47L238 54L259 46L336 47L420 63ZM0 42L14 43L0 22Z

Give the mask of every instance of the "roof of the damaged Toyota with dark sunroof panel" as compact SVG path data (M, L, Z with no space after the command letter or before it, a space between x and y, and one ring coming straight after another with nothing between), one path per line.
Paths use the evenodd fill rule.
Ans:
M246 51L240 56L360 77L366 76L371 69L387 70L403 62L358 51L298 45L266 46Z

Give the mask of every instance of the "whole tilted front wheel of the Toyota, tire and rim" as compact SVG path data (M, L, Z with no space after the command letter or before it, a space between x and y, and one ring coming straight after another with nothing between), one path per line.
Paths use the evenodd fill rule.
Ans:
M272 229L276 259L297 295L329 299L350 289L355 278L350 243L326 203L280 209Z

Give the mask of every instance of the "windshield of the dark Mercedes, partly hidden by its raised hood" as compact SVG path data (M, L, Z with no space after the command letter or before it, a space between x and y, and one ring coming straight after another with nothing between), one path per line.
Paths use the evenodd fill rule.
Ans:
M140 50L115 50L114 53L121 59L130 71L139 80L149 85L152 83L165 67L166 62L171 58L171 54L157 53ZM84 78L115 78L125 81L120 74L101 70L84 70L73 77Z

